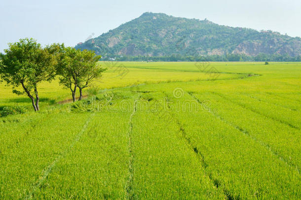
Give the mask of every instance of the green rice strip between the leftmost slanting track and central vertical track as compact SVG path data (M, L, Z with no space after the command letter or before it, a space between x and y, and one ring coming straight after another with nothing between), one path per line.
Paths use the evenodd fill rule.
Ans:
M119 108L120 101L114 98L113 106ZM128 130L132 110L116 111L104 109L95 113L73 150L53 167L36 192L36 198L127 198Z

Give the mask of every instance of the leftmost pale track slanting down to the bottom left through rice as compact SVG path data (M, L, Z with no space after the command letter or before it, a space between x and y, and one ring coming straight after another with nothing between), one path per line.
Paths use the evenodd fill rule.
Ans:
M76 142L78 142L78 140L81 138L82 134L84 133L84 131L87 129L87 126L89 124L89 122L91 121L91 119L94 117L95 113L91 114L91 116L87 119L87 121L85 122L85 124L83 125L82 129L80 130L80 132L75 136L75 139L73 140L73 142L71 143L71 145L69 146L69 148L67 148L60 156L58 156L55 160L53 160L53 162L51 162L41 173L41 177L36 181L36 183L33 185L33 187L31 188L31 190L29 191L29 194L27 195L27 197L25 198L25 200L29 200L33 198L34 193L37 191L37 189L41 186L41 184L43 183L43 181L45 180L45 178L47 178L47 176L49 175L49 173L51 172L51 169L55 166L55 164L61 160L63 157L65 157L74 147L74 145L76 144Z

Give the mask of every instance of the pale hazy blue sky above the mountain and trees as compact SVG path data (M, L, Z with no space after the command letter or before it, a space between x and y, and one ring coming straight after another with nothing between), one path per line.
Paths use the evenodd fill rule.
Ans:
M26 37L75 46L144 12L301 37L301 0L0 0L0 52Z

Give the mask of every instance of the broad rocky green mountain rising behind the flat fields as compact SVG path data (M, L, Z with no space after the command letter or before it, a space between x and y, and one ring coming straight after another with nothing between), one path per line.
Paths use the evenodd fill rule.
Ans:
M104 57L113 55L169 56L260 53L301 55L301 38L272 31L257 31L215 24L208 20L146 12L140 17L78 43Z

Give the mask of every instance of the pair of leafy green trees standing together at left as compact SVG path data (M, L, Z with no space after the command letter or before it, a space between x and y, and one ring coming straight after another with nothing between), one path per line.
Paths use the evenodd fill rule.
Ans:
M9 43L8 49L0 54L0 81L12 86L12 92L26 94L35 111L39 111L38 84L51 82L59 77L59 83L70 89L73 102L78 88L79 99L82 90L93 84L106 70L97 63L101 59L94 51L65 47L53 43L42 47L34 39L20 39ZM18 89L22 86L22 89Z

